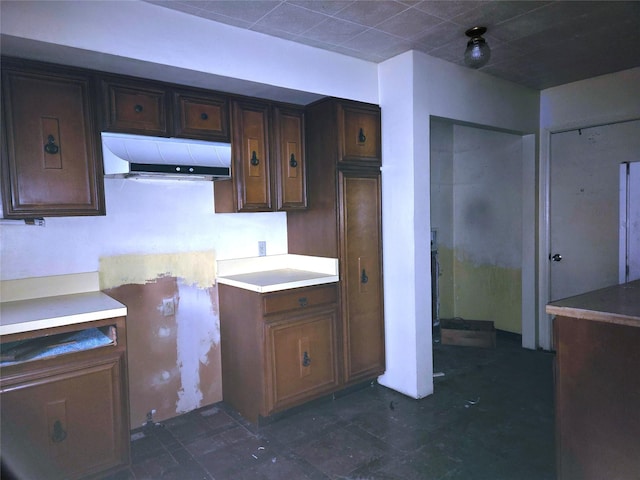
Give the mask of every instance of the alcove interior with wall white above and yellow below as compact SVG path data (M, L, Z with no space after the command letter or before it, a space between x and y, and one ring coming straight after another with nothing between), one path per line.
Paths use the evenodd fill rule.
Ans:
M533 228L523 225L523 137L440 118L430 129L439 317L522 334L523 232Z

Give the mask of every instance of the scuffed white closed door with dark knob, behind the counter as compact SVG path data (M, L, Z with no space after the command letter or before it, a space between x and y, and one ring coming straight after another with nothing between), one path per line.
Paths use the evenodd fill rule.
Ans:
M619 168L639 151L640 121L551 135L551 301L618 283Z

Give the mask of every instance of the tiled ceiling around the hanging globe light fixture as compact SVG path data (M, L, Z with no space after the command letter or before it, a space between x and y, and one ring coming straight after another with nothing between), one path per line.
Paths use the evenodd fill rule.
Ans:
M212 21L381 62L414 49L462 65L485 26L482 71L537 90L640 66L640 1L147 0Z

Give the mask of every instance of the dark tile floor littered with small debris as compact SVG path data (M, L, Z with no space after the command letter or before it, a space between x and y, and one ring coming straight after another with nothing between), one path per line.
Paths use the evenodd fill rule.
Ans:
M555 478L553 355L498 335L495 349L434 346L435 393L380 385L255 427L224 404L132 432L122 479Z

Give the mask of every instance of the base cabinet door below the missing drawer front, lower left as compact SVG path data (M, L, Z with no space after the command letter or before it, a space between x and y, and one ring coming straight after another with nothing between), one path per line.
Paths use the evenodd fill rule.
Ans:
M2 453L18 478L80 478L129 461L121 361L4 386Z

